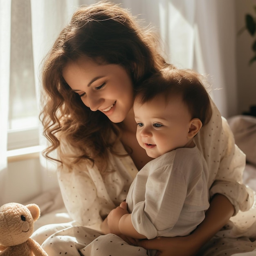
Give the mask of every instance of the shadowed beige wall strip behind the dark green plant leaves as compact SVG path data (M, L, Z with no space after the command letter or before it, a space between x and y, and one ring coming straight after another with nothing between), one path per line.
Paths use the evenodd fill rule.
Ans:
M239 31L245 26L245 14L256 16L253 7L256 7L256 0L235 0L236 1L236 28ZM236 63L238 82L238 114L249 111L251 105L256 105L256 62L249 65L253 57L251 45L254 38L244 31L237 36Z

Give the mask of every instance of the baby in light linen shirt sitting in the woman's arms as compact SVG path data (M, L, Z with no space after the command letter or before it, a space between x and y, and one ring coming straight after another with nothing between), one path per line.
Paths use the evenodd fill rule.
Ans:
M137 141L148 156L109 226L132 238L189 235L209 207L208 168L193 141L211 118L209 94L192 70L164 67L139 85ZM148 252L155 255L155 251Z

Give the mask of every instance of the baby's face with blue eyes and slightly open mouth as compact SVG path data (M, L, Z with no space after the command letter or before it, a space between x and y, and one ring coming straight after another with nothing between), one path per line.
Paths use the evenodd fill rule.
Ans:
M191 114L180 96L166 102L165 97L159 95L144 104L136 98L133 109L136 137L148 156L157 158L189 142Z

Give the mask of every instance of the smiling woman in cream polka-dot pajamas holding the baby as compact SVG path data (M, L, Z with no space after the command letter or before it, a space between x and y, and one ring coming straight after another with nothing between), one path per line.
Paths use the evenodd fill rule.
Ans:
M133 92L164 63L152 31L111 3L77 10L56 39L43 67L42 121L51 143L46 157L54 158L51 153L57 151L61 193L75 222L36 231L33 238L49 255L93 255L86 245L111 233L108 213L125 200L137 171L151 160L136 140ZM210 208L189 236L139 242L159 249L159 255L195 255L205 244L204 255L214 255L209 240L231 216L252 206L252 191L241 183L245 156L214 103L212 109L209 124L195 139L209 167ZM226 255L243 252L233 250L232 243L227 241L225 248L221 243ZM239 243L247 251L256 247Z

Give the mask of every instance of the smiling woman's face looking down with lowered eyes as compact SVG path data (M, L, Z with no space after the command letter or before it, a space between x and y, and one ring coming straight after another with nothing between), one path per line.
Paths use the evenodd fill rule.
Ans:
M132 80L120 65L100 65L83 56L67 63L63 77L85 106L101 111L114 123L123 121L132 108Z

